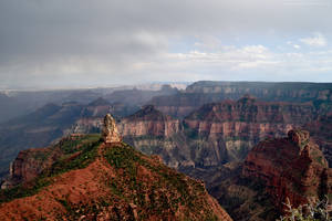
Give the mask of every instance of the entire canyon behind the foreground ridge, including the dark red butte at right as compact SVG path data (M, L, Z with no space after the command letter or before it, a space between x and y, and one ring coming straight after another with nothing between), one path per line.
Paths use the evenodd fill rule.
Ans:
M48 104L2 124L0 144L7 146L0 145L6 154L0 160L3 175L10 173L1 187L29 187L58 171L60 162L81 159L84 144L100 140L93 134L103 130L104 116L112 113L118 144L203 180L235 220L276 220L286 198L293 206L331 198L330 85L258 85L198 82L141 107L103 97L89 104ZM43 146L49 147L30 148Z

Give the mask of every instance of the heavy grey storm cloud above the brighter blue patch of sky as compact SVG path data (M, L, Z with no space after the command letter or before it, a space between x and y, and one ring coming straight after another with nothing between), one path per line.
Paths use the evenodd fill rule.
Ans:
M102 78L121 83L127 75L135 82L137 65L166 63L170 43L203 33L221 40L268 32L329 38L330 1L311 2L1 0L0 77L11 86L75 77L91 82L95 67ZM146 78L154 71L146 70Z

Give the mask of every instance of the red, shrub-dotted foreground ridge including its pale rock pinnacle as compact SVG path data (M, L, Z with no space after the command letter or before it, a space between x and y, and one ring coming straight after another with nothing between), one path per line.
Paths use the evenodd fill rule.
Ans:
M73 135L19 156L12 178L20 185L1 190L0 219L231 220L203 182L134 150L111 116L104 122L102 137Z

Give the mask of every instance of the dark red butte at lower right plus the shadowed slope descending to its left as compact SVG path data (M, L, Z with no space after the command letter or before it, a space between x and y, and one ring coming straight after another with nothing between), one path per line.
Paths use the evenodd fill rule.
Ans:
M332 169L304 130L268 138L250 150L245 162L185 171L204 179L209 192L234 220L274 221L286 198L293 207L328 196Z

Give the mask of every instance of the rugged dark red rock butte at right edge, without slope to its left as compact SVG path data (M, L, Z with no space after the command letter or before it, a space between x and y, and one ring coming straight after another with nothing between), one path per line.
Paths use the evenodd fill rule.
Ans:
M283 209L323 196L331 197L332 169L305 130L290 130L288 137L267 139L249 152L242 176L263 181L273 203Z

